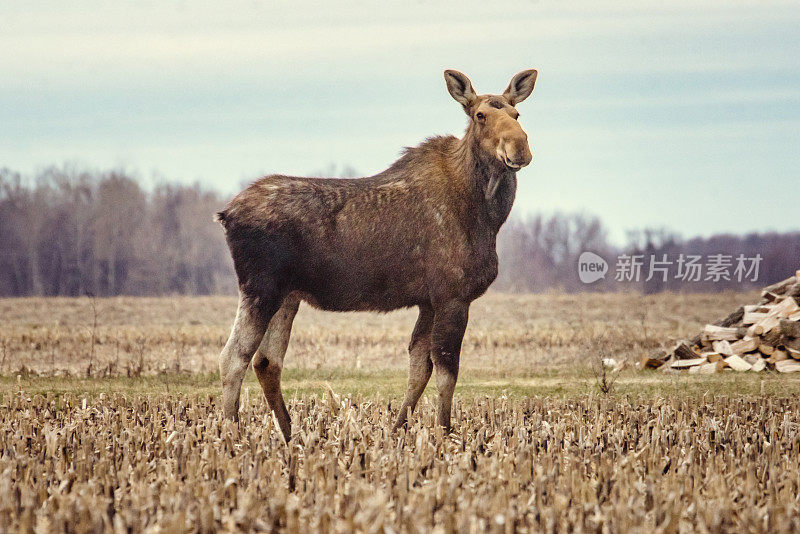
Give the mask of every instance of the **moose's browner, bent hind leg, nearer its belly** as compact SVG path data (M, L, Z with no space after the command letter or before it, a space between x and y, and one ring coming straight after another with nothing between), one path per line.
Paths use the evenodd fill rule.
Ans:
M287 443L292 436L292 422L281 394L281 372L292 333L292 322L299 306L300 299L295 295L284 299L280 309L272 316L267 333L253 359L253 370Z

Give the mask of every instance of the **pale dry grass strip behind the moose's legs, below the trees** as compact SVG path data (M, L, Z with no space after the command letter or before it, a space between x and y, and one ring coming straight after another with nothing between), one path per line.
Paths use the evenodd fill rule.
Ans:
M532 374L584 362L600 344L609 357L637 359L752 299L489 294L472 306L462 366ZM8 354L0 374L85 376L90 359L94 376L214 372L235 309L228 297L97 299L94 328L89 298L0 299L0 349ZM334 314L303 305L287 366L405 369L415 319L414 310Z

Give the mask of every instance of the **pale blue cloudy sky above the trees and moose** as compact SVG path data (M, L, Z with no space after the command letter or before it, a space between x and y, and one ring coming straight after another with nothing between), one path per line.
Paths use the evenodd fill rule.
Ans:
M123 168L235 193L370 175L461 135L442 71L518 105L516 216L684 237L800 229L800 3L3 2L0 167Z

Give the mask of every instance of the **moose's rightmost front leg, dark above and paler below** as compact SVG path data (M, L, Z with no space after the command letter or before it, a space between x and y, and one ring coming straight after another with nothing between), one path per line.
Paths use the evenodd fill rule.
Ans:
M436 388L439 390L438 421L448 432L453 390L458 380L461 342L468 317L469 303L466 302L450 301L434 310L431 357L436 368Z

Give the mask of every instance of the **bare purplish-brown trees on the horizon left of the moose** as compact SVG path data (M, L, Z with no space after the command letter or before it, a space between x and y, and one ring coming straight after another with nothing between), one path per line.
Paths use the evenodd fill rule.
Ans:
M199 185L145 191L120 171L0 171L0 295L205 295L235 292Z

